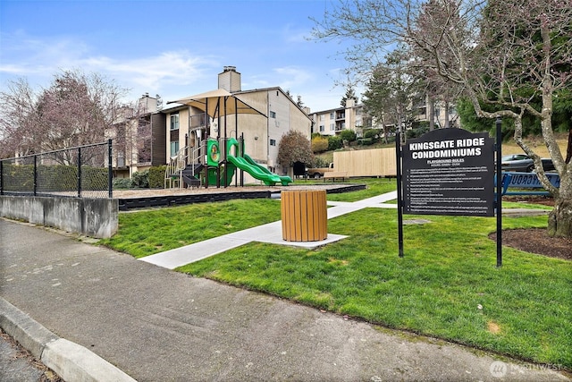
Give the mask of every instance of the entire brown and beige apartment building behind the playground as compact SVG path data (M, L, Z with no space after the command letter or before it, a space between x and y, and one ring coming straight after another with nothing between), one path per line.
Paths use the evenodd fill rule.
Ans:
M276 174L291 173L291 168L277 161L278 145L290 130L310 139L309 110L299 107L280 87L241 89L240 72L234 66L225 66L218 74L218 89L225 89L260 114L212 118L198 107L176 102L163 105L159 96L145 94L139 99L139 113L130 111L136 116L124 117L116 124L114 138L122 143L114 148L115 176L130 177L136 171L168 164L181 149L188 149L189 156L201 155L198 150L208 137L241 137L245 152L258 164ZM245 182L254 179L247 174Z

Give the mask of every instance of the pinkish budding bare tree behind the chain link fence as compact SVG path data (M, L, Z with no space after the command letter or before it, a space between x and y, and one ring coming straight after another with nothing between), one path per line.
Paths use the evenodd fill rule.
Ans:
M105 140L124 109L126 93L98 74L55 74L39 92L25 80L0 93L2 155L13 157ZM63 161L67 160L63 158Z

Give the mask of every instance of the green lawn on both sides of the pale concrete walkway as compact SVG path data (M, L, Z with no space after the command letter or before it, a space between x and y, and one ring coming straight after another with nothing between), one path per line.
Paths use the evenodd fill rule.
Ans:
M361 193L357 199L391 191L395 184L366 182L369 190L352 192ZM252 242L178 270L384 327L572 369L572 263L505 248L503 267L497 268L496 243L487 237L495 230L494 218L406 216L411 217L431 223L404 226L403 259L396 211L367 208L329 220L329 233L349 238L317 250ZM269 199L120 214L119 233L105 244L146 256L279 218L279 201ZM505 217L503 225L545 227L546 216Z

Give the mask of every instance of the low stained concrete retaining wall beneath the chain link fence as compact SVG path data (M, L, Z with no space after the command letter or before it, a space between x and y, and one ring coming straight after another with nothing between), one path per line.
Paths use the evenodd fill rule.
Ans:
M117 232L117 199L0 196L0 216L108 238Z

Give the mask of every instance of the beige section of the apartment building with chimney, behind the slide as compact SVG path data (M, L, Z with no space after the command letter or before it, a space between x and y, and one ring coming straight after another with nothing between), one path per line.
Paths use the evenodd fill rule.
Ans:
M290 130L310 139L312 121L307 109L298 106L280 87L241 89L241 75L234 66L225 66L218 74L218 89L224 89L260 114L236 114L212 118L204 110L183 104L169 104L161 111L166 126L165 161L178 150L201 147L207 137L242 137L245 152L258 164L276 174L289 174L291 168L277 161L282 135ZM245 182L253 179L245 178Z

